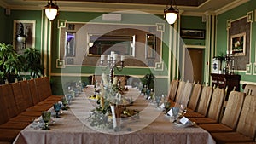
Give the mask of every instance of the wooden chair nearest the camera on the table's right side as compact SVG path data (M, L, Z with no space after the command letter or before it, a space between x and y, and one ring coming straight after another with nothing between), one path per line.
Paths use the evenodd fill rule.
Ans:
M246 96L235 132L211 133L217 143L255 142L256 96Z

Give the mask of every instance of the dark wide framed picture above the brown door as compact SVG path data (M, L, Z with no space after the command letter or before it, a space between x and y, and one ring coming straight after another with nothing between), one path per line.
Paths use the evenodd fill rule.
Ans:
M205 30L182 29L180 36L189 39L205 39Z

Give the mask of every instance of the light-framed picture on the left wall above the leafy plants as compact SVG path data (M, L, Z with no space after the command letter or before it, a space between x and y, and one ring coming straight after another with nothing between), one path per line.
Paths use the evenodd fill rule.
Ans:
M14 20L13 47L18 54L26 48L35 48L36 20ZM25 35L25 42L18 42L17 36Z

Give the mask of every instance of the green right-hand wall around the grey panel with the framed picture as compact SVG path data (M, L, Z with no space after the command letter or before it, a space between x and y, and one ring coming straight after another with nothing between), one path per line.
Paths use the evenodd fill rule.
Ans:
M246 72L236 72L237 74L241 74L241 84L244 83L252 83L255 84L256 76L253 75L253 72L256 73L256 68L253 70L253 65L255 62L255 38L256 38L256 23L254 20L254 14L256 9L256 1L249 1L247 3L242 4L241 6L231 9L224 14L219 14L217 16L217 38L216 38L216 54L226 54L227 51L227 20L237 20L241 17L247 16L248 12L253 12L253 23L252 23L252 31L251 31L251 60L250 63L252 64L251 73L246 74ZM247 55L249 56L249 55Z

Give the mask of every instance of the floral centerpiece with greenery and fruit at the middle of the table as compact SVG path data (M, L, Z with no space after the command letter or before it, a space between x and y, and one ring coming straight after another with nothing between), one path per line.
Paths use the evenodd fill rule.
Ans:
M137 110L129 110L132 101L123 96L123 90L119 87L118 78L113 78L113 83L108 82L106 74L102 74L102 83L100 84L100 98L97 101L97 107L90 112L88 118L90 126L96 126L102 129L119 129L113 123L115 118L127 118L137 115ZM113 109L114 108L114 109Z

